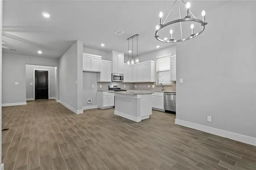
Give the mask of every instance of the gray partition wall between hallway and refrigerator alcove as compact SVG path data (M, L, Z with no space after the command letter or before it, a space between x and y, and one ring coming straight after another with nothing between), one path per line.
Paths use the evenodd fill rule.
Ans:
M82 110L82 42L76 41L59 59L59 94L58 99ZM77 84L76 84L77 81ZM79 94L79 95L78 95ZM72 104L71 104L72 102Z

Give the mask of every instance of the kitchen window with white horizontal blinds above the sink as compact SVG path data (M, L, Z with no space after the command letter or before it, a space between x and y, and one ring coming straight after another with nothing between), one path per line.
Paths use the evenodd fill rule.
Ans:
M157 57L157 85L162 83L163 85L172 84L170 80L170 56L167 54Z

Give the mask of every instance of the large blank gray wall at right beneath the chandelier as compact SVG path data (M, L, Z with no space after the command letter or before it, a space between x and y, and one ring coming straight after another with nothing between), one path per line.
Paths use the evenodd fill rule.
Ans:
M207 11L205 31L178 43L177 119L256 137L255 6L229 1Z

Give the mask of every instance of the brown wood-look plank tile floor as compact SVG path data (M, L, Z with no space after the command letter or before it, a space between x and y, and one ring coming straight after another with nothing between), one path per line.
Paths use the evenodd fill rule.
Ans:
M5 169L256 169L255 146L175 125L164 112L136 123L113 111L74 114L55 100L3 107Z

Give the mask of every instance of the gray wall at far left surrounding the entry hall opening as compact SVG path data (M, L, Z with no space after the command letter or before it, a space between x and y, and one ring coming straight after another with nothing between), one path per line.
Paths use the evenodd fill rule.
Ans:
M59 60L3 53L2 103L26 102L26 64L59 66ZM19 82L15 85L15 82Z

